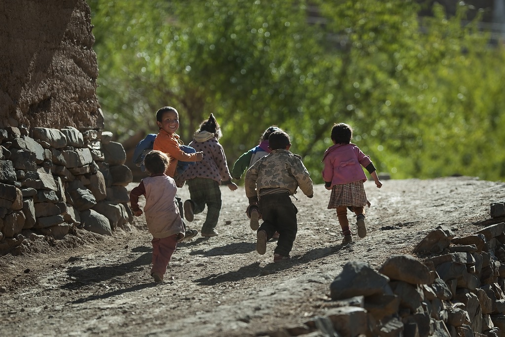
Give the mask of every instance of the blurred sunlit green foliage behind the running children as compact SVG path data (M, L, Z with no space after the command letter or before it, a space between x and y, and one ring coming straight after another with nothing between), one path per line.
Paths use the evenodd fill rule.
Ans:
M214 113L231 166L278 125L319 183L345 122L392 178L505 179L505 53L462 24L464 5L419 20L405 0L88 2L97 94L120 140L156 132L164 105L186 142Z

